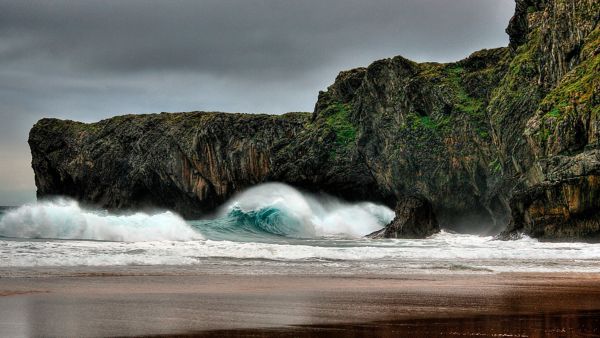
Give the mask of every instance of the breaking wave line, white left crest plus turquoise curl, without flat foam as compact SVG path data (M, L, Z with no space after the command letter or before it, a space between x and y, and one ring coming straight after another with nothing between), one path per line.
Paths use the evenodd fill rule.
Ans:
M0 212L0 217L0 236L10 238L144 242L206 236L268 241L273 237L358 238L384 227L394 212L373 203L346 203L267 183L237 195L207 220L186 222L168 211L114 215L82 208L68 199L27 204Z

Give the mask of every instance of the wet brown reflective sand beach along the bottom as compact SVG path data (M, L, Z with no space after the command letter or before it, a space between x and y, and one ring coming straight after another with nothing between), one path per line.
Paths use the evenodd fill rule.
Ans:
M600 275L0 277L0 337L594 337Z

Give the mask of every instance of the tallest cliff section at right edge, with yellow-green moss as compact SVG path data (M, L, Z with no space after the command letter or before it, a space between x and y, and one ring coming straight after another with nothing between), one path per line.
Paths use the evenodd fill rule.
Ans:
M519 116L521 140L505 143L518 156L506 165L517 179L507 180L516 188L504 235L598 239L600 3L521 3L526 39L515 46L508 80L517 81L515 93L526 83L531 95Z

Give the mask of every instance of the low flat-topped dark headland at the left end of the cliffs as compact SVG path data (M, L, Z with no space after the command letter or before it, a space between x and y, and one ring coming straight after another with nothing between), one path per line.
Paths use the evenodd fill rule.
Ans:
M263 182L273 148L293 141L309 116L198 112L94 124L43 119L29 137L38 197L197 217Z

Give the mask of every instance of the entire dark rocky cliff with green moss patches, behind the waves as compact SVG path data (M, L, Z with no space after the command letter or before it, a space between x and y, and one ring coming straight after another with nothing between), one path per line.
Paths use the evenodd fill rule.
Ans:
M595 0L517 0L507 48L342 72L312 115L41 120L38 195L194 217L282 181L389 206L423 196L457 230L594 237L599 12Z

